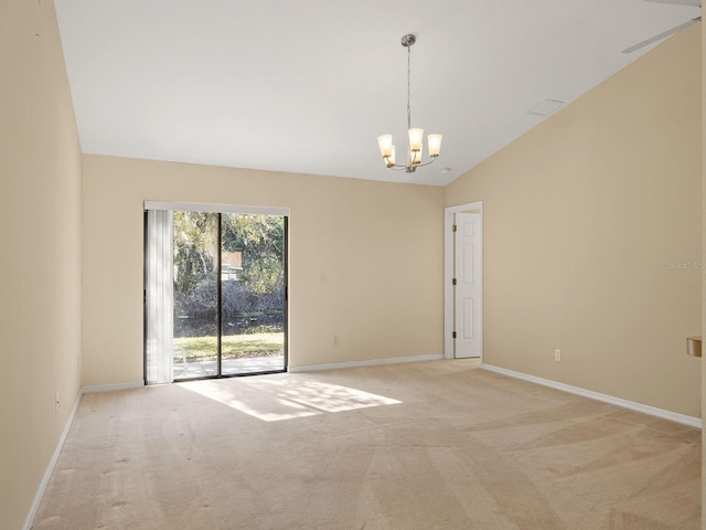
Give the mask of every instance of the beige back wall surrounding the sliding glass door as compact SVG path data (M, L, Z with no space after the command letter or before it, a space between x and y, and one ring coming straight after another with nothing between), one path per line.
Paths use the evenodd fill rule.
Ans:
M145 200L291 209L291 365L442 353L441 188L96 156L83 168L84 384L142 380Z

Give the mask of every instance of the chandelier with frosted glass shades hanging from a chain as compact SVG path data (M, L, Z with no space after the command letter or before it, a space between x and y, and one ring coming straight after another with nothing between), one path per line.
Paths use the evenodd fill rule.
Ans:
M427 147L429 149L428 162L421 161L421 149L424 141L424 129L411 127L411 109L409 106L409 73L410 68L410 55L411 46L417 41L417 38L411 33L402 38L402 45L407 49L407 163L400 165L395 162L395 145L393 144L393 135L383 135L377 137L377 145L379 146L379 152L383 156L385 166L388 169L396 171L404 170L407 173L414 173L417 168L421 166L429 166L439 156L441 150L441 135L429 135L427 137Z

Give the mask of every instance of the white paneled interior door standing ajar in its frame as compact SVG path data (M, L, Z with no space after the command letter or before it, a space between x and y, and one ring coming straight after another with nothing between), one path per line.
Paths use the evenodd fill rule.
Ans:
M482 352L482 216L457 213L454 219L453 357Z

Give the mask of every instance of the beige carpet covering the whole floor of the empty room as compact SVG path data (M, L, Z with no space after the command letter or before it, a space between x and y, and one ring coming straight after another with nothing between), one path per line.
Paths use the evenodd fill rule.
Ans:
M698 529L700 431L474 361L86 394L35 529Z

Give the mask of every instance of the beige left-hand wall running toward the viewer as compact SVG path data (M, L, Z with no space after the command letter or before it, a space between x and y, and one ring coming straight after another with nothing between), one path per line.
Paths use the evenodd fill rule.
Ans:
M81 150L51 1L0 2L0 528L18 529L79 390Z

